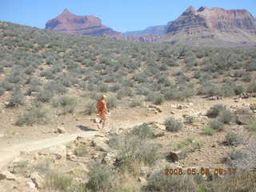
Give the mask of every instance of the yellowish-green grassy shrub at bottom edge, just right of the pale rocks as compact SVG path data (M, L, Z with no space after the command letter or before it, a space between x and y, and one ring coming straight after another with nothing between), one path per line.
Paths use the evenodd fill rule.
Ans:
M69 191L70 186L72 186L72 178L70 176L54 171L46 174L46 191L59 190L67 192Z

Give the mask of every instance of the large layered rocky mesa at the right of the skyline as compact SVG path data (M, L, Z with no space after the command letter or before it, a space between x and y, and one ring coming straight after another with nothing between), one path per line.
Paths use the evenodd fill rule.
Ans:
M168 23L166 36L172 43L253 45L256 42L256 19L247 10L207 7L195 10L190 6Z

